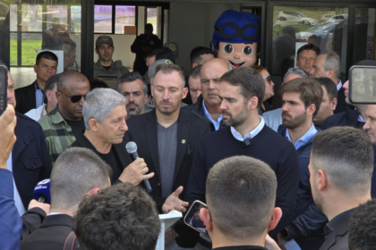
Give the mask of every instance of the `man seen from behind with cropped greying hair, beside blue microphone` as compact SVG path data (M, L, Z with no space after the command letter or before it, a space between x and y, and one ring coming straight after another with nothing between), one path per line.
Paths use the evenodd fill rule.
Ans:
M21 241L21 249L64 249L81 200L109 187L111 173L106 162L89 149L66 149L51 173L50 212L40 228Z

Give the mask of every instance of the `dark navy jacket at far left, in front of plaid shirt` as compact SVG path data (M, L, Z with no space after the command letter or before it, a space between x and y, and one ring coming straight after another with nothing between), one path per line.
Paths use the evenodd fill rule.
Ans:
M17 140L12 150L13 177L22 204L28 208L33 199L34 187L51 175L45 133L37 121L16 112L17 124L14 134Z

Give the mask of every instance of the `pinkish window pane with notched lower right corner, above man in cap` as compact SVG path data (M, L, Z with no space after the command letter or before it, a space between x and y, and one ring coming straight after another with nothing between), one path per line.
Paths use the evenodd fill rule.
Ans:
M124 34L124 26L136 25L136 6L115 6L115 34Z

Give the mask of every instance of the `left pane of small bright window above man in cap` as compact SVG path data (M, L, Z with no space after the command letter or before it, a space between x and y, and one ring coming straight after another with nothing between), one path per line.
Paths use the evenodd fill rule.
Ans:
M112 5L94 5L94 32L112 33Z

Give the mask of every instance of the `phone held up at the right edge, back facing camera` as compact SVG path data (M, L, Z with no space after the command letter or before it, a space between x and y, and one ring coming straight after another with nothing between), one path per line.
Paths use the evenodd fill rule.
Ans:
M348 98L353 104L376 104L376 66L350 68Z

